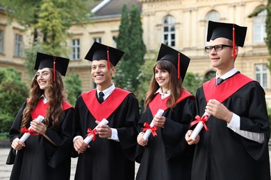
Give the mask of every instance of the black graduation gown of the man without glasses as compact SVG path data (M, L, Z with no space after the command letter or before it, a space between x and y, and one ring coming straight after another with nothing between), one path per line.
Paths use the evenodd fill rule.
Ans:
M108 99L104 102L106 101ZM82 96L77 99L75 109L79 116L79 132L76 135L85 138L88 128L94 129L97 126L95 118L86 107ZM117 129L120 142L99 138L97 135L95 141L90 141L90 148L79 154L75 179L134 179L138 118L138 100L129 93L113 114L106 118L108 126Z

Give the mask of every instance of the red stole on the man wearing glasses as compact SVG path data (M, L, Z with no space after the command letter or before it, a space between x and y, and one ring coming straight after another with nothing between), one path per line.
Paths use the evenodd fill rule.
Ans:
M245 86L245 84L252 81L254 80L241 73L238 73L216 87L215 78L213 78L203 84L206 102L211 99L223 102L233 95L233 93L236 93L236 91L238 91L241 87Z

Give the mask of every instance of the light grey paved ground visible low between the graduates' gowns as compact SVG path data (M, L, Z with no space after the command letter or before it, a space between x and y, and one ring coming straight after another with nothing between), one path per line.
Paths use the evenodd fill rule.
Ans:
M271 157L271 146L269 147L269 154ZM10 177L10 171L13 168L13 165L6 165L6 158L8 156L9 149L0 148L0 180L8 180ZM74 172L76 168L77 158L72 158L72 172L71 172L71 180L74 180ZM271 162L271 158L270 158ZM138 163L136 163L136 172L138 171Z

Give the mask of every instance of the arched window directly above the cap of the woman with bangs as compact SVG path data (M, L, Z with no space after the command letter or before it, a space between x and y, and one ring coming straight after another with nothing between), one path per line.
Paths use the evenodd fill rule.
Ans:
M165 17L163 21L162 42L167 46L175 46L175 19L172 16Z

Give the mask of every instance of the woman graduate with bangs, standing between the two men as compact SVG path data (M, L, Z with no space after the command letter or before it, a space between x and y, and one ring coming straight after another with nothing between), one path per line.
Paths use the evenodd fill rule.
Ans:
M183 87L183 79L190 62L189 57L161 44L149 91L145 98L145 111L139 127L157 127L154 136L145 141L145 132L138 134L136 161L140 163L136 179L190 179L194 147L189 147L185 134L195 118L195 97ZM181 77L180 77L181 76ZM162 116L156 116L163 109ZM155 136L156 131L157 136Z

